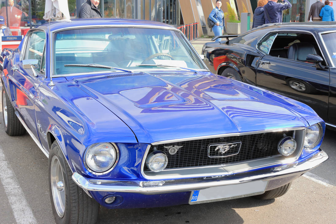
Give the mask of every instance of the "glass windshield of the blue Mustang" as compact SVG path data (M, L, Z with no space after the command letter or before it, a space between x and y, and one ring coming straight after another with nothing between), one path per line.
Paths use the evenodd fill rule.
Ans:
M55 75L107 70L207 70L182 35L172 30L85 28L61 31L54 37Z

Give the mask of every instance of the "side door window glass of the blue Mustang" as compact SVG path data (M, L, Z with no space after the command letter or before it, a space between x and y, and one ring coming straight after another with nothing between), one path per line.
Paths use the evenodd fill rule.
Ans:
M29 37L25 59L37 59L39 61L37 71L41 70L43 49L45 45L45 33L36 31Z

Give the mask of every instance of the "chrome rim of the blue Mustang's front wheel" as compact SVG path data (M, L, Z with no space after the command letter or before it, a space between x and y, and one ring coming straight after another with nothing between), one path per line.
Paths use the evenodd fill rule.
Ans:
M65 187L62 168L56 155L51 160L50 177L54 206L58 216L62 218L65 212Z

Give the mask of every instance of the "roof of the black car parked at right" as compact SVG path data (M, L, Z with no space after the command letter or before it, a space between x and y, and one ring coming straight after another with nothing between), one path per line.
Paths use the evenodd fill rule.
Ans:
M270 32L270 30L293 30L293 31L309 31L312 33L320 33L325 31L336 31L336 22L305 22L305 23L279 23L279 24L265 24L251 32L257 30L264 30Z

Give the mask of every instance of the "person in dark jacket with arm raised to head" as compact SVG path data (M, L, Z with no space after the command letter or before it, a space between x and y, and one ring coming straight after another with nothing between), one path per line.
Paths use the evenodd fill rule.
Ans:
M278 0L269 0L264 5L265 24L282 23L282 11L292 7L287 0L281 0L283 3L277 3Z

